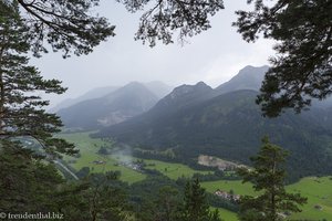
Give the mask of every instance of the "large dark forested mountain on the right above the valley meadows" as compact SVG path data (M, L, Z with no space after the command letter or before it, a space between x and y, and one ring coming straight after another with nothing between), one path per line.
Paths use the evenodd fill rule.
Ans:
M260 147L260 139L268 135L291 152L288 167L293 178L331 173L332 135L326 125L332 117L324 117L331 113L313 108L301 115L287 112L278 118L264 118L255 104L257 91L226 92L231 90L228 85L245 86L235 84L243 83L239 81L246 78L243 73L250 72L240 72L215 91L203 82L181 85L148 112L105 127L95 136L148 149L173 148L181 159L205 154L248 164L249 156ZM216 95L217 90L225 93Z

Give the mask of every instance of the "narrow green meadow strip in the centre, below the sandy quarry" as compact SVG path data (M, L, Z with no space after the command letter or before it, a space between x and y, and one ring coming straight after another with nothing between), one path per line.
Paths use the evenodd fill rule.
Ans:
M194 170L186 165L175 164L175 162L164 162L159 160L144 160L147 164L147 169L156 169L163 175L169 177L170 179L177 179L179 177L193 177L194 173L209 173L211 171Z

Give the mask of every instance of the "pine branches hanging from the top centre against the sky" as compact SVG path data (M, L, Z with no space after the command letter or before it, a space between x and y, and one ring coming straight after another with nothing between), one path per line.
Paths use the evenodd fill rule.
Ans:
M181 41L210 28L209 17L224 9L222 0L117 0L129 12L141 11L151 6L141 17L136 40L154 46L157 40L173 43L173 33L179 32Z

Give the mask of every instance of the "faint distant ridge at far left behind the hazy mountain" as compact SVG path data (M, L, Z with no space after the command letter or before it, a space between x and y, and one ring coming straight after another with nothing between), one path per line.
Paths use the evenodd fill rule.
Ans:
M68 99L64 99L64 101L60 102L54 107L50 108L49 112L56 113L62 108L70 107L70 106L72 106L74 104L77 104L80 102L105 96L106 94L110 94L110 93L116 91L117 88L120 88L120 87L118 86L104 86L104 87L93 88L93 90L86 92L85 94L83 94L83 95L81 95L76 98L68 98Z

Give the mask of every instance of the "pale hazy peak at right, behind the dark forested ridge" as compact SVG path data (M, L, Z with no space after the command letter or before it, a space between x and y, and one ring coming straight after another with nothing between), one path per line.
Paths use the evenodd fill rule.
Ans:
M239 90L252 90L258 92L268 70L269 66L267 65L260 67L248 65L240 70L229 82L215 88L215 91L218 95Z

